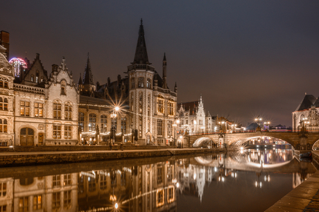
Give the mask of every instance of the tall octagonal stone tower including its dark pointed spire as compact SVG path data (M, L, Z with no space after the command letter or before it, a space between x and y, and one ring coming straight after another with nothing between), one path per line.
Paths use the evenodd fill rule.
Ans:
M155 68L148 62L144 26L141 19L134 61L128 66L132 130L137 130L137 143L148 145L153 136L153 78ZM136 138L135 138L136 139Z

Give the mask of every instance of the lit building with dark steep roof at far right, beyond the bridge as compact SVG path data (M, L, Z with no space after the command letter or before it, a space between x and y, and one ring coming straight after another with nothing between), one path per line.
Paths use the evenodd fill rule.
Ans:
M318 98L306 94L300 105L292 113L293 131L299 131L304 125L309 132L319 132L318 112Z

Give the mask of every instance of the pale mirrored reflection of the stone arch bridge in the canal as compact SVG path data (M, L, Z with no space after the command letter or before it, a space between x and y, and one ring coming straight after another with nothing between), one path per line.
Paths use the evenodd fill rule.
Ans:
M316 168L311 163L300 163L297 159L292 159L291 161L285 161L280 164L261 164L253 163L253 162L243 162L237 161L232 157L227 157L222 159L222 164L224 168L230 170L245 170L252 172L269 172L269 173L301 173L302 170L307 170L307 173L316 173ZM221 166L220 159L208 159L205 157L195 157L191 159L191 164L198 166L210 166L210 167L219 167Z

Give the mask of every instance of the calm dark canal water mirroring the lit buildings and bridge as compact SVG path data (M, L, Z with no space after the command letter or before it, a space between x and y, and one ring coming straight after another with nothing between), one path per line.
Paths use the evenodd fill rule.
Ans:
M288 149L0 168L0 211L265 211L315 172Z

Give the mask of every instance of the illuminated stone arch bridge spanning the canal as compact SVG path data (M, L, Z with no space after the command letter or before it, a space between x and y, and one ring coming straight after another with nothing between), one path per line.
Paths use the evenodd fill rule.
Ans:
M207 142L207 139L214 143L220 144L242 144L250 139L266 136L275 139L282 139L293 145L295 150L311 150L316 141L319 140L319 132L243 132L230 134L196 134L189 136L189 143L196 146L202 145L202 142ZM207 138L206 141L204 138Z

